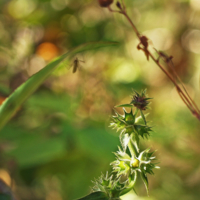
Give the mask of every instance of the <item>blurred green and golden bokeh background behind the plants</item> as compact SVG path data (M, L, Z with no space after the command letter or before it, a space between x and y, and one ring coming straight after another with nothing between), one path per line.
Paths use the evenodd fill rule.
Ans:
M141 33L173 55L176 70L200 106L200 1L125 0ZM112 6L115 8L115 5ZM173 85L143 52L128 22L96 0L0 0L0 99L73 47L90 41L118 46L64 63L0 131L0 177L17 200L71 200L90 192L110 170L119 145L108 128L113 107L132 89L153 97L151 138L160 170L149 176L150 197L138 180L124 200L200 199L200 122ZM119 112L122 110L118 109Z

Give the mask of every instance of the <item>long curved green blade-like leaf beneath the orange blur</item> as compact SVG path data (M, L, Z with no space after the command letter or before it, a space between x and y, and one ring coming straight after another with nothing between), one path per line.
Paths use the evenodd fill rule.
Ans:
M31 76L25 83L19 86L0 106L0 129L12 118L17 112L20 105L44 82L45 79L57 68L57 66L65 59L71 59L77 53L116 45L115 42L90 42L82 44L73 50L58 57L48 65L46 65L39 72Z

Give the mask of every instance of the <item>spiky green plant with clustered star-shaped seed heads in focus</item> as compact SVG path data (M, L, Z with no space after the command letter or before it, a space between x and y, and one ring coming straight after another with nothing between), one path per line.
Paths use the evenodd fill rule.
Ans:
M118 147L119 150L115 153L116 160L111 163L112 172L102 174L95 180L93 193L82 200L120 199L120 196L134 190L139 174L148 194L147 174L153 174L153 169L159 168L154 162L154 152L150 152L150 148L140 149L140 140L148 138L151 132L151 127L146 121L147 115L143 113L147 109L149 99L151 98L146 97L146 90L141 94L134 92L129 104L117 106L123 107L124 115L115 111L110 123L110 127L120 131L121 143L121 147ZM125 107L131 108L131 111L127 112Z

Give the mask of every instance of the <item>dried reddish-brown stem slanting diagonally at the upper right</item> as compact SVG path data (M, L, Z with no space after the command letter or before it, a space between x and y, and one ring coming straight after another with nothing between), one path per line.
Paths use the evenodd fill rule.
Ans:
M147 60L149 59L149 57L151 57L151 59L158 65L158 67L166 74L166 76L171 80L171 82L174 84L174 86L176 87L176 90L180 96L180 98L182 99L182 101L185 103L185 105L188 107L188 109L191 111L191 113L198 119L200 120L200 110L198 108L198 106L196 105L196 103L194 102L194 100L190 97L189 93L187 92L183 82L181 81L180 77L178 76L178 74L176 73L175 69L174 69L174 65L172 62L172 56L168 57L165 54L161 54L159 53L159 51L157 51L155 48L155 51L159 54L159 58L164 57L165 59L164 62L167 64L167 66L172 70L172 75L165 70L165 68L160 64L159 62L159 58L156 59L153 54L148 50L148 38L146 36L142 36L139 31L137 30L136 26L134 25L134 23L132 22L132 20L130 19L130 17L128 16L127 12L126 12L126 6L124 3L124 0L122 1L122 6L119 2L117 2L117 7L119 8L118 11L112 10L110 7L108 7L108 9L111 12L118 12L122 15L125 16L125 18L128 20L128 22L130 23L130 25L132 26L134 32L136 33L140 43L137 46L138 50L143 50ZM142 46L142 47L141 47ZM179 87L176 79L180 82L183 90ZM185 93L184 93L185 92Z

